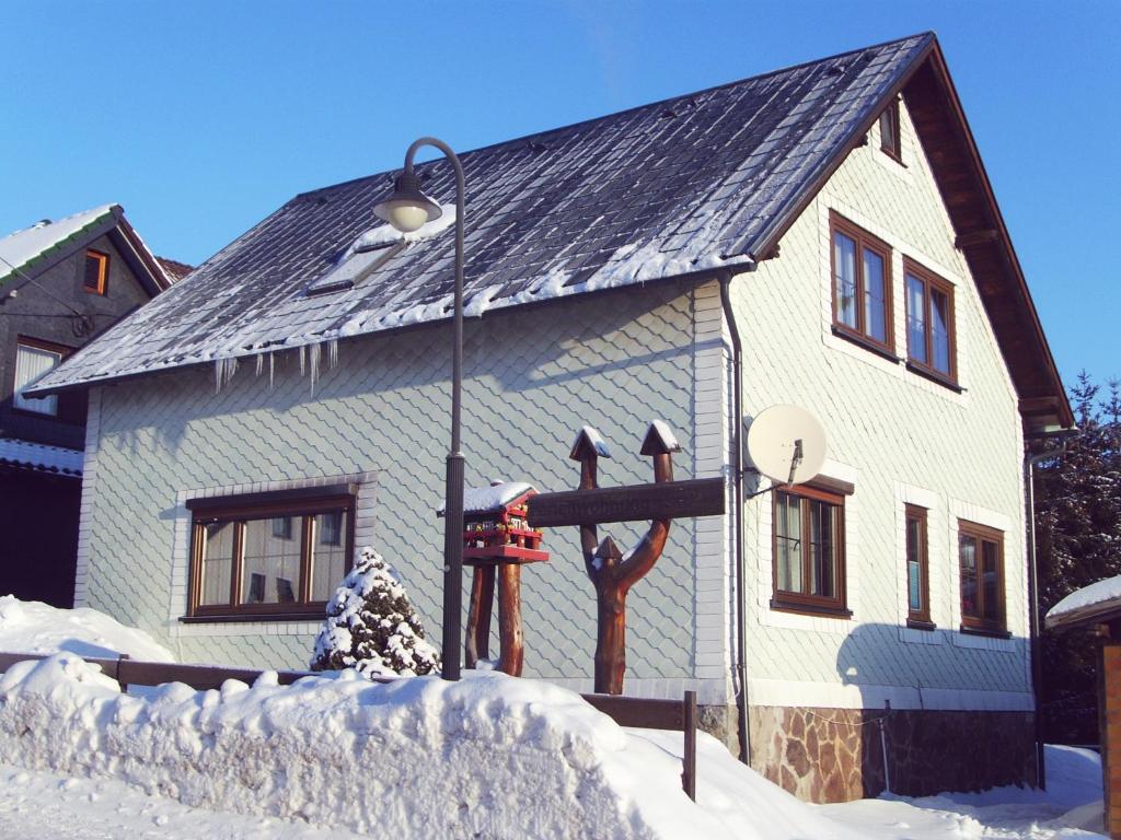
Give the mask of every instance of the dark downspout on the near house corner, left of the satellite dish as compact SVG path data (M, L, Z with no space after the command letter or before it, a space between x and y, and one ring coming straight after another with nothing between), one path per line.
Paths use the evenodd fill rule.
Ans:
M751 263L749 270L754 269ZM724 271L720 274L720 304L724 310L724 323L728 324L728 332L732 337L732 476L734 478L735 495L735 674L740 681L740 692L736 696L738 729L740 737L740 760L751 765L751 738L748 734L748 654L747 654L747 598L744 595L744 580L747 570L744 569L743 552L743 345L740 343L740 330L735 324L735 315L732 311L732 301L729 296L729 286L732 282L732 272Z

